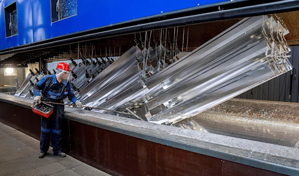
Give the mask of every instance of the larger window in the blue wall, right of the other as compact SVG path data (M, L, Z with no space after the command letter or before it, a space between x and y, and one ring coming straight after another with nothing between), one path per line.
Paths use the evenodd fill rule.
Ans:
M77 14L77 0L51 0L51 21L58 21Z

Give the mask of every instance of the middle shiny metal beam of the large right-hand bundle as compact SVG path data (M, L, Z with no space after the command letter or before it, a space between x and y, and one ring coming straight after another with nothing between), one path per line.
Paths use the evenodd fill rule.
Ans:
M194 74L191 77L182 79L180 85L174 86L170 89L164 89L163 91L158 92L157 95L153 95L147 105L149 106L149 109L153 109L161 104L168 106L171 102L165 102L168 102L173 98L178 99L178 96L189 95L192 93L196 94L197 90L200 90L212 83L213 85L217 85L215 82L220 80L222 77L225 77L226 74L234 74L234 72L237 73L240 69L243 69L244 71L250 70L258 60L256 56L262 55L266 48L266 41L264 41L255 45L251 49L240 50L236 56L224 59L223 63L220 65L206 65L207 67L203 71ZM198 64L192 65L193 68L198 68L199 66L200 65ZM227 81L228 79L229 78L222 80L222 82ZM220 84L220 82L218 84ZM167 86L168 85L166 84L164 87Z

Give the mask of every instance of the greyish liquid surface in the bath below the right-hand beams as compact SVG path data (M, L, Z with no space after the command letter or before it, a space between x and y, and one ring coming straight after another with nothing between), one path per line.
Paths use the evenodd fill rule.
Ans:
M178 122L174 126L287 147L295 147L299 142L299 129L201 115Z

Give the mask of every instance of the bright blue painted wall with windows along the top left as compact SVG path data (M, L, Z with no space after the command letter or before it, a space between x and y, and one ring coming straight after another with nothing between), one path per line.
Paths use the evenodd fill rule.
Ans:
M18 34L5 37L4 7L16 1ZM154 14L227 0L77 0L77 15L51 22L50 0L0 0L0 50Z

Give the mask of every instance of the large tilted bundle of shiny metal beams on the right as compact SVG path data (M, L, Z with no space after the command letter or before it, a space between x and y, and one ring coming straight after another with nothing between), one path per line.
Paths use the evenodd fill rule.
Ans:
M148 120L176 123L292 69L284 38L289 31L276 16L245 18L147 81Z

